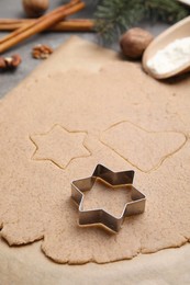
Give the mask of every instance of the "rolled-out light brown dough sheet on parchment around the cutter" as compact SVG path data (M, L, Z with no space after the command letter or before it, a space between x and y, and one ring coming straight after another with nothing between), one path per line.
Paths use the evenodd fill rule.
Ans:
M79 264L188 242L190 78L157 82L114 56L101 65L93 58L91 71L65 69L60 58L62 50L1 101L1 236L9 244L42 239L47 256ZM126 218L119 235L77 225L70 182L91 175L97 163L135 170L134 185L147 197L145 213ZM120 207L113 197L109 209Z

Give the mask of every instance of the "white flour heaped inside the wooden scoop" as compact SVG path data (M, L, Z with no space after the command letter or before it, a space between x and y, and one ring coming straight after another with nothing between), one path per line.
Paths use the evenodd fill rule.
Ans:
M183 37L158 50L147 61L147 66L155 73L163 75L188 62L190 64L190 37Z

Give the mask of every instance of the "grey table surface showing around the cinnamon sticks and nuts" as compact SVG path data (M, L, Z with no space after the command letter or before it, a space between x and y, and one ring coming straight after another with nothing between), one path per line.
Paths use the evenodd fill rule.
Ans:
M62 0L49 1L49 11L56 7L64 3ZM89 4L91 1L87 0L87 8L81 12L77 13L78 18L92 18L94 7ZM22 0L0 0L0 18L25 18ZM142 23L142 27L150 31L155 36L166 30L166 24L155 24ZM7 32L0 32L0 37L4 36ZM69 36L79 35L88 41L98 43L98 36L96 33L55 33L46 32L41 33L31 38L27 38L23 43L13 47L3 54L3 56L9 56L12 54L20 54L22 57L22 64L14 71L0 71L0 98L5 95L12 88L14 88L23 78L25 78L36 66L38 66L42 60L36 60L32 58L31 50L36 44L47 44L54 49L63 44ZM119 50L119 44L113 43L110 48Z

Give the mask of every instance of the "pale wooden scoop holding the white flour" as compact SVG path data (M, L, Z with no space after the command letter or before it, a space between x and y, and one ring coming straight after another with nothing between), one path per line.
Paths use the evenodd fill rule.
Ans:
M161 75L156 73L154 70L147 66L147 61L153 58L156 53L176 39L190 37L190 16L181 20L177 24L172 25L159 36L157 36L146 48L143 55L143 68L144 70L156 79L165 79L169 77L177 76L190 70L190 61L181 65L180 67L174 69L172 71L165 72Z

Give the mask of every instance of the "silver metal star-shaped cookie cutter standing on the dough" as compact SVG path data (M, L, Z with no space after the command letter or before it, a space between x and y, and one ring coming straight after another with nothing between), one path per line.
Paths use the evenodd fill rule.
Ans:
M131 202L124 205L122 214L120 217L112 216L110 213L103 210L102 208L96 208L90 210L83 210L83 192L92 189L97 180L101 180L107 183L109 186L128 186L131 191ZM146 197L133 184L134 171L122 171L122 172L112 172L108 168L98 164L90 178L85 178L71 182L71 198L79 206L79 225L93 225L102 224L108 229L118 232L121 228L121 225L124 220L124 217L142 214L145 209Z

